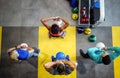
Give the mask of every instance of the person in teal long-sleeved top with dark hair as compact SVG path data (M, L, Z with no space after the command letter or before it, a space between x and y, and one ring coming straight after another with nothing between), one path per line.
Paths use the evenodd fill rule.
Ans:
M120 47L107 47L104 43L99 42L96 47L89 48L86 54L82 49L80 49L80 53L83 57L91 58L98 64L109 65L111 61L120 56Z

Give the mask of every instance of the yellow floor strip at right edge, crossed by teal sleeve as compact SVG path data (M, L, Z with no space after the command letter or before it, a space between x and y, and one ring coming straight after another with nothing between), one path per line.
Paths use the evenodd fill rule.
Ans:
M120 26L112 27L113 46L120 46ZM114 60L114 78L120 78L120 57Z

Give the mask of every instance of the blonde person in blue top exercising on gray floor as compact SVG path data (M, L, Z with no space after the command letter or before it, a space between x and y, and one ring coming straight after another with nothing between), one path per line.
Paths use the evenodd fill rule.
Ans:
M9 48L7 50L7 54L9 55L11 60L26 60L33 56L38 56L40 50L37 48L31 48L26 43L21 43L15 47Z

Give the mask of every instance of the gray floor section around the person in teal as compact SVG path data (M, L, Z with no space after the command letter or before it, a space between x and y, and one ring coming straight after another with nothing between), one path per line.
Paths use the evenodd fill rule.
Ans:
M86 53L87 48L95 47L97 42L104 42L105 45L112 45L111 27L97 27L92 29L92 34L97 37L96 42L89 42L90 35L77 34L77 78L114 78L113 63L110 65L96 64L91 59L83 58L79 49Z

